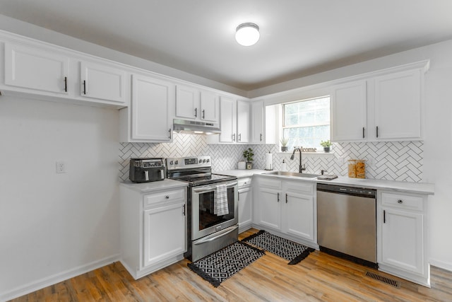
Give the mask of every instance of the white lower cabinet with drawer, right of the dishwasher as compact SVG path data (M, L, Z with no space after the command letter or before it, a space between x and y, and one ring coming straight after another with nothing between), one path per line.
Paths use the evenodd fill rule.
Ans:
M377 207L379 268L429 286L427 195L381 191Z

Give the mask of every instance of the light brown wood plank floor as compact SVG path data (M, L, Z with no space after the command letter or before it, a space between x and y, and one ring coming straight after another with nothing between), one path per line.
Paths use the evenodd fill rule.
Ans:
M452 273L435 267L432 289L427 289L319 251L297 265L267 252L215 288L187 263L182 260L133 280L115 262L13 301L452 301ZM366 277L367 271L396 279L401 286Z

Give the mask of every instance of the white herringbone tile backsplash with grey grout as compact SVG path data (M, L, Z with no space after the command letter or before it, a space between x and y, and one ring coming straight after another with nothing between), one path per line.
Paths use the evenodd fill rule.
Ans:
M335 143L328 155L303 153L307 173L328 173L347 176L349 159L365 159L366 178L381 180L422 181L422 141L386 141L375 143ZM283 160L287 170L298 170L298 154L290 160L292 152L280 153L277 145L210 145L206 137L174 133L172 144L122 143L119 149L119 178L129 179L129 159L132 157L211 156L215 171L237 169L244 161L244 149L254 151L254 168L265 168L264 153L273 153L273 167L280 170Z

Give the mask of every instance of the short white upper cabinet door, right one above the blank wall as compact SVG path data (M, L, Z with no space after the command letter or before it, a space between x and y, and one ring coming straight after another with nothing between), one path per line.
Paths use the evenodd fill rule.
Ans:
M103 64L81 62L81 96L126 103L126 72Z

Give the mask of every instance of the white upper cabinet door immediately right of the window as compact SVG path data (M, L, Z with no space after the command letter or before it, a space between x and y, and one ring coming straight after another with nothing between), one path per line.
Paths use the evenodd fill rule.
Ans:
M331 141L367 139L366 81L333 88L331 98Z

